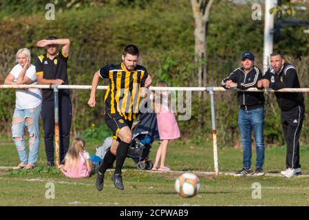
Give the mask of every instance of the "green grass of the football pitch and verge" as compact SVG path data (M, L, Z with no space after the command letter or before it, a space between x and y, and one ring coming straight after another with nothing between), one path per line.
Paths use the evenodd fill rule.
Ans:
M87 143L90 153L96 144ZM102 192L94 187L96 176L87 179L69 179L54 169L44 166L45 150L40 146L38 166L34 170L0 171L0 206L308 206L309 177L219 177L198 171L213 170L211 144L174 142L169 146L167 166L172 170L191 170L198 173L202 188L200 193L183 199L175 193L175 177L181 172L159 173L136 170L134 162L127 159L123 179L125 190L117 190L111 182L111 170L105 175ZM151 149L154 159L158 144ZM266 173L278 173L285 167L285 147L266 148ZM301 148L303 173L309 173L308 146ZM255 158L255 154L253 154ZM0 166L19 163L14 144L1 142ZM254 165L253 159L253 165ZM242 168L242 151L233 148L219 149L220 171L233 172ZM46 184L55 188L55 199L46 199ZM262 186L262 199L253 199L253 183ZM290 203L293 201L293 203Z

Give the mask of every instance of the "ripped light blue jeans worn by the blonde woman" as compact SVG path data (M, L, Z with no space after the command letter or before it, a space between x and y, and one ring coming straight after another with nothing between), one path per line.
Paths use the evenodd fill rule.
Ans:
M23 164L35 164L39 155L39 117L41 113L41 104L33 109L15 108L12 122L12 138L15 142L19 159ZM14 122L17 120L18 122ZM22 120L22 121L21 121ZM32 123L29 123L29 120ZM23 138L25 126L29 132L29 157L26 151L26 144Z

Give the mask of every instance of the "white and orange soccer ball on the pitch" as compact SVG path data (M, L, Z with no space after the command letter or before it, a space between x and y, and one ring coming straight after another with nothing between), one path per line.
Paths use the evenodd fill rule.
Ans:
M193 173L183 173L175 181L175 190L184 198L194 197L200 191L200 179Z

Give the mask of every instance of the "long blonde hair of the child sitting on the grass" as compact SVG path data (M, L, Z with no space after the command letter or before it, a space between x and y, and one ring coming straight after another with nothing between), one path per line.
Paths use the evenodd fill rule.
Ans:
M75 137L72 147L67 151L65 158L65 165L69 168L71 166L78 166L80 153L85 151L85 140L81 137Z

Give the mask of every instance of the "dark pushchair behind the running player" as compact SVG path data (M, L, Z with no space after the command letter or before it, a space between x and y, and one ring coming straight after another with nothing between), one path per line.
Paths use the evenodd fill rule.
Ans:
M138 170L151 170L153 162L149 159L151 144L160 140L156 113L143 113L132 130L132 142L127 157L136 163Z

